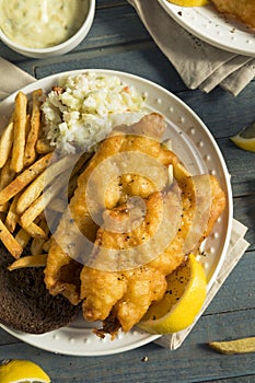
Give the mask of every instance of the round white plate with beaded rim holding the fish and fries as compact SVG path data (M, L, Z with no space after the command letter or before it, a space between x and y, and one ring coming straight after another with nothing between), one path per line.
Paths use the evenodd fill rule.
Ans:
M148 80L124 72L109 70L96 71L103 74L116 74L126 83L134 85L138 92L147 95L149 108L165 116L169 124L169 136L173 140L173 150L179 155L189 172L192 174L209 172L210 174L215 174L220 181L228 196L227 209L216 223L213 232L206 241L205 248L210 253L210 256L202 259L209 279L208 288L210 288L228 249L232 224L230 177L216 141L195 113L163 88ZM78 72L80 71L72 71L69 73L73 74ZM24 88L23 92L31 94L31 92L37 88L49 91L51 85L58 83L58 79L62 74L63 73L54 74L42 79ZM14 97L15 94L0 104L0 129L4 126L11 114ZM90 325L83 318L77 320L69 327L63 327L44 335L23 334L11 330L5 326L2 326L2 328L16 338L40 349L72 356L101 356L123 352L159 338L158 335L151 336L138 329L134 329L128 334L120 333L114 341L108 337L100 339L92 334Z

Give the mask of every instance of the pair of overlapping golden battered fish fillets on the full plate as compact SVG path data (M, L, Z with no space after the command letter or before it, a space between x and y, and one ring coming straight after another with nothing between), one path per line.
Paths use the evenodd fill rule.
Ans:
M51 241L46 286L82 301L85 320L103 321L98 336L128 332L162 299L166 276L198 249L225 206L216 177L190 176L159 141L164 129L153 113L106 138Z

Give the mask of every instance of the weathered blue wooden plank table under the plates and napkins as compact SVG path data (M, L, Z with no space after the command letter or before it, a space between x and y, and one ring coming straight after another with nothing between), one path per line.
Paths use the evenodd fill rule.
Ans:
M121 0L98 0L88 37L66 56L28 59L3 44L0 55L36 79L72 69L117 69L152 80L182 98L205 121L223 153L232 176L234 217L248 227L251 243L176 351L149 344L107 357L69 357L34 348L0 330L0 359L38 362L55 383L255 382L255 353L223 356L207 346L211 340L255 336L255 154L229 139L255 120L255 81L237 97L220 88L210 94L188 90L134 9Z

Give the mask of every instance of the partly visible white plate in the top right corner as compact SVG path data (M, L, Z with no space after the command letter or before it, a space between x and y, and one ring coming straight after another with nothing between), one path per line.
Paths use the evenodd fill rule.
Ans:
M179 7L158 0L179 25L218 48L234 54L255 56L255 33L244 24L218 13L213 5Z

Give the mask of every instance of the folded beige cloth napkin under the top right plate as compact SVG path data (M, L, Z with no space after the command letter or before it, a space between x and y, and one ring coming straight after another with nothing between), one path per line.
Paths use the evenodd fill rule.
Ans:
M255 77L255 59L216 48L179 26L157 0L128 0L189 89L221 85L237 95Z

